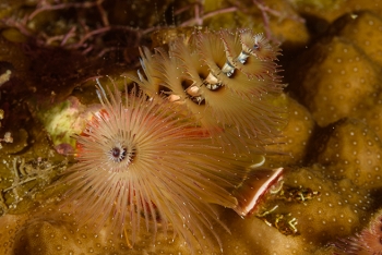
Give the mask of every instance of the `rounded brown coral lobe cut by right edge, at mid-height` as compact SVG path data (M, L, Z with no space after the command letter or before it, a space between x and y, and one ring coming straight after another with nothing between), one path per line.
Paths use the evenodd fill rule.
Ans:
M331 179L350 179L363 189L377 189L382 180L382 143L365 122L344 119L319 134L312 161ZM341 160L338 160L341 159Z

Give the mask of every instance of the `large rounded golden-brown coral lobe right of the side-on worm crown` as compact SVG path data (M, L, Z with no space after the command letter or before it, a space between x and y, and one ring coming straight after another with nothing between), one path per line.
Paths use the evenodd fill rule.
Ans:
M373 96L380 83L370 59L346 38L335 36L319 41L306 58L299 94L321 126L351 114ZM314 62L308 60L312 58Z

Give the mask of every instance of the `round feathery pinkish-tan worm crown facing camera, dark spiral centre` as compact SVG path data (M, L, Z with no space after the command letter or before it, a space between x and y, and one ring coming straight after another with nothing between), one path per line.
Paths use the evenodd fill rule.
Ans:
M76 136L79 162L64 177L65 203L81 222L102 228L112 217L115 231L131 231L132 243L141 221L154 239L171 230L190 246L214 234L223 223L211 204L237 207L230 191L253 160L213 145L168 99L117 88L107 96L102 87L98 95L103 109Z

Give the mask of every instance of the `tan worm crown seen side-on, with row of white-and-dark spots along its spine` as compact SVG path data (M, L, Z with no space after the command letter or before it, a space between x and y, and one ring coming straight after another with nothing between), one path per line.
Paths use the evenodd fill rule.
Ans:
M184 105L217 139L232 145L246 139L254 147L272 142L285 123L283 110L272 104L284 87L277 47L251 29L195 29L168 48L141 49L143 72L129 77L147 95Z

